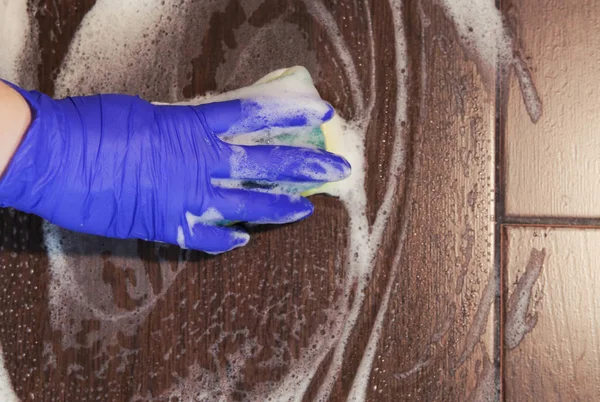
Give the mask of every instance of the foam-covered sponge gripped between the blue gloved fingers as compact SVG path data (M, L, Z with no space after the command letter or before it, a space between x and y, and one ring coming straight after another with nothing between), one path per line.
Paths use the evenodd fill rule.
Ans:
M321 99L317 89L314 86L312 77L308 70L301 66L284 68L273 71L254 84L240 88L234 91L225 92L216 95L208 95L202 98L196 98L192 101L180 104L203 104L212 102L222 102L231 99L247 99L264 96L289 96L298 98L316 98ZM337 112L333 118L320 127L312 130L306 128L287 128L284 130L265 129L260 132L249 133L247 135L236 135L232 137L223 137L223 140L238 145L293 145L299 147L310 147L326 149L327 151L344 155L344 147L341 141L342 120ZM289 195L309 196L318 193L327 192L326 183L261 183L261 182L235 182L227 180L218 183L225 187L244 187L252 189L264 189Z

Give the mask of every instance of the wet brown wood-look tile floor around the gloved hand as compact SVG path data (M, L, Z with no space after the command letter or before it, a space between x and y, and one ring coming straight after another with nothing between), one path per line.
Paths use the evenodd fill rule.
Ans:
M54 93L73 35L95 3L35 2L41 90ZM130 67L124 82L83 71L73 93L96 85L172 101L247 85L277 63L304 64L346 118L373 102L371 223L390 180L397 132L405 164L364 288L348 280L348 215L332 198L314 198L312 219L258 232L249 247L217 258L64 234L73 241L63 273L75 286L52 290L57 272L41 221L0 211L0 343L22 400L189 400L199 389L214 391L209 400L243 400L298 382L293 373L308 378L304 397L296 395L303 400L314 399L325 378L333 379L334 401L346 400L357 378L366 379L369 401L495 400L500 384L506 400L600 399L589 380L599 356L591 228L600 222L598 6L501 2L544 104L532 124L516 81L500 76L496 88L437 1L402 3L399 14L391 0L216 1L209 12L190 8L180 21L198 46L167 60L171 42L159 38L153 57L182 67L179 75L156 75L152 63ZM408 65L400 72L393 16L407 33ZM264 41L265 31L288 36ZM354 73L333 37L348 50L364 102L349 95ZM290 56L281 43L292 42ZM250 71L232 63L257 54L270 56ZM408 114L396 121L403 77ZM182 88L175 99L169 80ZM532 223L538 226L525 226ZM552 227L573 223L590 228ZM352 312L356 325L340 346ZM363 372L365 356L373 364Z

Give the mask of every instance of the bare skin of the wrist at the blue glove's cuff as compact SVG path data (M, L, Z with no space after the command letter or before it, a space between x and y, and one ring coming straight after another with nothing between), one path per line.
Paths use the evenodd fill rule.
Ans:
M30 124L31 109L27 101L15 89L0 81L0 178Z

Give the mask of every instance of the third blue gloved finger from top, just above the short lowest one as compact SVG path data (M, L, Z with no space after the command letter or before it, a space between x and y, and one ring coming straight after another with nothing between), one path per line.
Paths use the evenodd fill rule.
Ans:
M188 224L220 224L223 221L284 224L303 219L314 210L312 203L303 197L237 188L215 188L209 205L199 216L186 214Z

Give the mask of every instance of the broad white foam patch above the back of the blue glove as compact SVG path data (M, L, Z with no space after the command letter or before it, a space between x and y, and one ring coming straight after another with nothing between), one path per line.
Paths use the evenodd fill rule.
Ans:
M179 97L179 83L188 79L189 60L197 50L184 45L198 42L199 30L218 10L214 2L191 7L192 3L96 1L73 37L55 81L55 95L76 91L139 94L149 100L165 93L171 99ZM196 18L193 24L187 22L188 14Z

